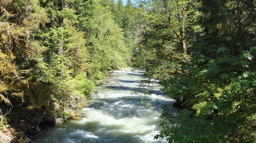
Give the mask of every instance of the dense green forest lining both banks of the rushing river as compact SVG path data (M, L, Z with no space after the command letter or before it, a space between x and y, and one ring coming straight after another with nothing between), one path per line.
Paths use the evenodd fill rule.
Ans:
M38 134L109 71L143 67L181 109L163 106L155 139L256 142L255 12L253 0L1 0L0 130Z

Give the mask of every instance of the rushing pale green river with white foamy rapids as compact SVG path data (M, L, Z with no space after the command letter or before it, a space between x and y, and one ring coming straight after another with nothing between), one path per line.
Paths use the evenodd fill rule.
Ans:
M140 80L145 79L143 73L131 68L114 71L108 79L111 82L97 88L90 106L78 111L86 118L63 123L36 142L167 142L154 140L154 136L163 121L158 118L161 106L172 107L175 100L164 96L157 83L138 89ZM178 112L176 108L170 110Z

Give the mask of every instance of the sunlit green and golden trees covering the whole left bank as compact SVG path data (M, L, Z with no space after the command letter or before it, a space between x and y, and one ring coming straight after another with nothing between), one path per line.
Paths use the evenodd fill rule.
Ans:
M132 50L113 15L101 0L0 1L0 109L14 108L10 123L65 116L108 70L127 65Z

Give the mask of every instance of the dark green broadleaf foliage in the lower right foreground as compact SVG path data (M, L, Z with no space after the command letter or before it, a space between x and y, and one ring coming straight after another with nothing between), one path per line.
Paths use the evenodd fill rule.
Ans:
M250 66L242 67L244 62L254 64L244 52L240 56L227 53L225 58L223 56L208 59L208 63L200 67L188 66L189 73L174 76L165 83L165 92L191 113L188 117L181 114L169 120L169 124L176 126L162 125L163 130L157 138L166 136L175 142L253 140L256 78L255 72L247 69Z

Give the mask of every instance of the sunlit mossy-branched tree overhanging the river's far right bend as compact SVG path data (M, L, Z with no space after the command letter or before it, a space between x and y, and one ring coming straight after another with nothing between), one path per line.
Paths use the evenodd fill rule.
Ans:
M181 65L189 60L186 53L191 47L186 40L197 35L194 27L200 31L195 24L199 5L197 1L153 1L151 9L140 8L143 37L134 54L134 66L146 67L148 75L160 80L184 72Z

